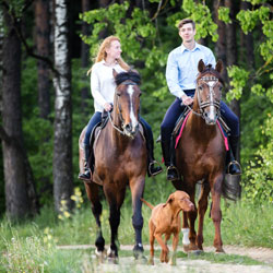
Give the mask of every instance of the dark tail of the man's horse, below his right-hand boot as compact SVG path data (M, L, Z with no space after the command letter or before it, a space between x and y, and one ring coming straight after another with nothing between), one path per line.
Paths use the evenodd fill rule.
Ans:
M223 181L222 194L224 198L236 201L241 195L240 175L226 174Z

